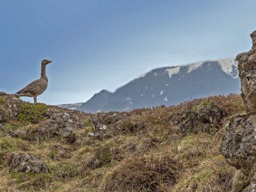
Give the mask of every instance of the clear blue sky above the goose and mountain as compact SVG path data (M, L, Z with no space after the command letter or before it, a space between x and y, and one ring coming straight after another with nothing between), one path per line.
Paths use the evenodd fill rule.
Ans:
M255 0L0 0L0 90L38 79L43 59L38 102L64 104L152 68L235 57L252 47L255 10Z

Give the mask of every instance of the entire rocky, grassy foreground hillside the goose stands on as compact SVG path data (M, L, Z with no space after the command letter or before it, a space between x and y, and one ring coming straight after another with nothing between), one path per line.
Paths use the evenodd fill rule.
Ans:
M88 114L0 93L0 191L245 191L219 152L236 114L239 95Z

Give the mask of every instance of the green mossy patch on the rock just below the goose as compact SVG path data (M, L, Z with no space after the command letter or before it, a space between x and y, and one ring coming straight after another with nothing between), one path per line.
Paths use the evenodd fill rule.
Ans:
M18 119L20 122L37 124L42 121L47 112L45 104L24 103L19 105Z

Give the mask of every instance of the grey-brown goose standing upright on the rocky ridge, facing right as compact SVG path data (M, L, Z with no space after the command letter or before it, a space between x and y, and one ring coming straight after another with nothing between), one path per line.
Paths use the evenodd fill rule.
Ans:
M42 73L41 78L29 83L28 86L15 93L19 97L33 97L34 103L37 102L36 97L44 93L48 85L48 78L46 76L45 67L51 63L50 60L42 60Z

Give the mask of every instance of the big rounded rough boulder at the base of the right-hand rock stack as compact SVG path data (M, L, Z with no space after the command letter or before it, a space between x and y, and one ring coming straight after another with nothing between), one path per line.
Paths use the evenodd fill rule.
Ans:
M256 165L256 115L232 116L220 147L228 164L252 176Z

